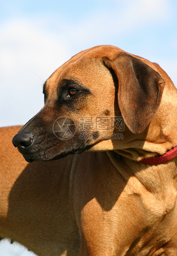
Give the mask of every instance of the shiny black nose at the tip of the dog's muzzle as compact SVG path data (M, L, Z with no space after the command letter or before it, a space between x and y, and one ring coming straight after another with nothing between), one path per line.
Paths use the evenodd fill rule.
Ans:
M32 144L32 141L32 135L28 133L17 133L12 139L14 147L18 147L19 149L29 147Z

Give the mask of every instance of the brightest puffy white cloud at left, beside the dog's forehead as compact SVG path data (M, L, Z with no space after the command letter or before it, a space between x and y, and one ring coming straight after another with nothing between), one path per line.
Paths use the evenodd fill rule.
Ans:
M66 60L64 44L31 21L10 21L0 33L0 67L7 72L30 67L33 71L48 73L49 65L57 68Z

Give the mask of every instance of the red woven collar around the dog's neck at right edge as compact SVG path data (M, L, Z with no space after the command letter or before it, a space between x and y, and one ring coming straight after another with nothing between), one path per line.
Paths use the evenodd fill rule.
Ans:
M142 164L162 164L162 163L165 163L167 161L172 160L176 156L177 156L177 146L174 147L173 149L170 149L169 151L167 151L166 154L164 154L163 156L145 158L145 159L139 161L139 163L142 163Z

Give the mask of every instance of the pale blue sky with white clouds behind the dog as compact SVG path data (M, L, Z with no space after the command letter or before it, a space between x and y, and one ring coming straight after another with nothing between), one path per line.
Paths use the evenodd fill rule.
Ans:
M177 1L0 0L0 126L26 123L48 76L103 44L157 62L177 86Z

